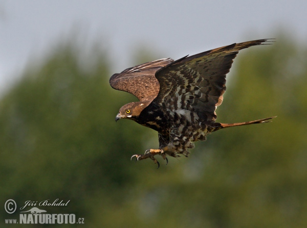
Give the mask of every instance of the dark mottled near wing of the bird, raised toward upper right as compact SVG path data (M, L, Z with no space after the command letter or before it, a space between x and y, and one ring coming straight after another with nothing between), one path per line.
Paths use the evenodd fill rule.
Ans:
M195 111L202 121L215 121L233 59L239 50L267 42L234 43L169 63L156 73L160 91L154 102L170 111Z

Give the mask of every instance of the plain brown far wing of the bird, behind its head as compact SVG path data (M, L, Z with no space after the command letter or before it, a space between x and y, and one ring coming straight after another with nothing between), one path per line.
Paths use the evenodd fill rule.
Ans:
M159 59L156 61L137 65L115 73L109 80L112 88L131 93L141 102L153 100L159 93L159 82L155 77L157 70L173 62L172 59Z

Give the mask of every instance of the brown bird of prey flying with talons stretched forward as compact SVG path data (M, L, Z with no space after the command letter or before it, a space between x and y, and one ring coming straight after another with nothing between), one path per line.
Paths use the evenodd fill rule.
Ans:
M109 80L117 90L135 95L140 101L120 108L116 121L134 120L158 132L159 148L147 149L144 155L133 155L137 161L155 155L188 157L194 142L231 126L266 123L274 117L240 123L218 123L216 107L223 102L226 74L239 50L270 44L270 39L234 43L179 60L159 59L115 73ZM166 164L167 164L166 163Z

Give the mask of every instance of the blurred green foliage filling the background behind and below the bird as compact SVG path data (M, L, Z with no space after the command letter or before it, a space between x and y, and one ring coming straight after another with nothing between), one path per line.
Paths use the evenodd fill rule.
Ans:
M85 70L76 49L56 49L0 102L0 204L71 200L42 209L75 213L85 227L307 226L307 46L243 50L218 121L278 117L218 131L158 170L129 160L157 147L157 133L114 121L136 98L108 85L105 52Z

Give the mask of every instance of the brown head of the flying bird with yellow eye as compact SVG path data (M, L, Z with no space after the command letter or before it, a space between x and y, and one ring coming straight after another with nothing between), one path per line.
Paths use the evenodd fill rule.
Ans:
M136 120L140 113L143 111L144 108L146 108L148 104L145 102L131 102L129 104L124 105L120 108L119 113L115 117L115 121L127 118Z

